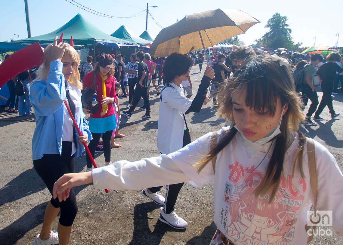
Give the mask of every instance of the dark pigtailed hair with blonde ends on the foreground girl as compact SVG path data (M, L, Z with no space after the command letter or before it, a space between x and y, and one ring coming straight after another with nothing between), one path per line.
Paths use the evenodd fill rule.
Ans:
M264 111L267 109L271 116L275 115L277 101L281 106L288 104L288 109L282 117L280 131L275 140L274 150L268 163L265 176L254 191L255 196L264 195L271 191L269 202L274 199L283 171L284 156L288 147L292 144L294 135L299 136L299 147L293 162L293 175L298 168L302 177L303 153L305 136L299 131L299 123L304 120L299 96L295 92L292 75L289 68L280 66L279 61L272 61L269 55L251 56L230 78L229 84L218 95L220 108L218 113L221 117L231 122L229 130L221 135L216 147L209 152L200 162L194 164L198 173L234 139L237 134L233 117L232 95L236 91L246 91L246 106L251 110Z

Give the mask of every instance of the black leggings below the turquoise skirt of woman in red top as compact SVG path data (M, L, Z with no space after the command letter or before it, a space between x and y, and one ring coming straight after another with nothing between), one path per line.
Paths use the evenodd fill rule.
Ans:
M106 131L103 133L103 147L104 147L104 155L105 155L105 161L110 162L111 161L111 137L112 137L113 130ZM94 157L95 154L95 148L99 144L100 136L101 134L92 133L93 139L88 144L88 149L90 150L92 157ZM92 168L93 164L91 162L91 159L88 157L88 154L86 156L87 160L87 168Z

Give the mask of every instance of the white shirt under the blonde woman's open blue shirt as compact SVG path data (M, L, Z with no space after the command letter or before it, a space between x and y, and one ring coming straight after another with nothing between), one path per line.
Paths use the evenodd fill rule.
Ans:
M81 113L82 104L81 104L81 89L75 85L70 84L66 81L67 87L66 90L69 90L69 95L71 100L75 104L75 117ZM62 141L73 142L73 120L71 119L66 104L63 103L64 113L63 113L63 132L62 132ZM76 139L79 137L76 136ZM71 144L71 156L76 152L76 146L73 142Z

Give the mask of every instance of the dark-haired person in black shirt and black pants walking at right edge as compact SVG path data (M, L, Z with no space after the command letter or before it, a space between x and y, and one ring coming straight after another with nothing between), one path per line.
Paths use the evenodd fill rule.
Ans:
M320 117L320 113L324 110L325 106L328 106L331 113L331 118L338 117L340 113L335 113L332 106L332 97L331 93L333 90L333 80L335 78L336 72L341 73L343 69L336 64L337 61L340 61L343 66L343 58L338 52L330 53L327 57L328 62L320 66L317 71L318 80L321 81L320 87L323 91L323 97L320 101L319 107L315 113L314 120L324 120Z

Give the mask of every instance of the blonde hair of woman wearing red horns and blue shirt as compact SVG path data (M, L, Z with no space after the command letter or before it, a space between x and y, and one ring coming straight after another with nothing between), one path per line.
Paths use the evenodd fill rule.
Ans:
M50 63L51 61L53 61L51 55L51 47L52 46L49 45L44 49L43 65L39 67L37 71L37 78L32 82L46 81L48 79L48 75L50 72ZM76 50L72 46L68 45L64 51L63 57L68 57L76 63L73 73L69 78L68 82L82 89L82 83L80 82L79 72L80 58L78 52L76 52Z

